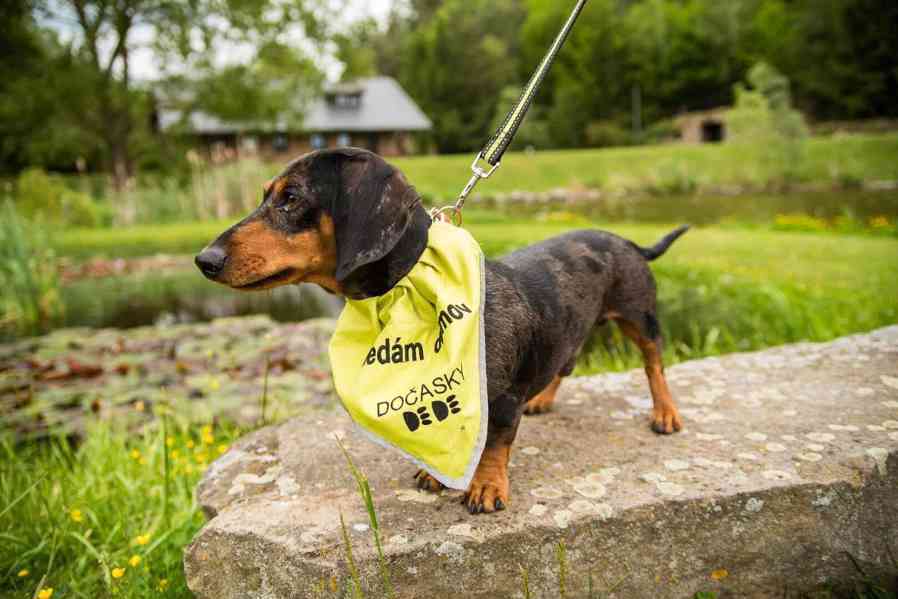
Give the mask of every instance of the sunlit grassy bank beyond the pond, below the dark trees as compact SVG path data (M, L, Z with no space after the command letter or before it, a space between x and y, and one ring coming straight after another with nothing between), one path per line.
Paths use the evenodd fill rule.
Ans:
M661 145L597 150L512 152L482 183L486 194L545 191L574 186L602 189L668 189L692 184L766 187L779 181L783 165L759 145ZM898 135L810 138L791 172L799 181L840 184L898 178ZM472 156L391 159L426 197L450 198L467 179Z

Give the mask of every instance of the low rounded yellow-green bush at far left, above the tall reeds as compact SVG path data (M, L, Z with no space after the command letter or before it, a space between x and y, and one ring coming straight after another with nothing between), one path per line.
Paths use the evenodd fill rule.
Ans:
M89 195L69 189L38 168L19 175L16 209L29 219L78 227L107 225L111 220L108 210Z

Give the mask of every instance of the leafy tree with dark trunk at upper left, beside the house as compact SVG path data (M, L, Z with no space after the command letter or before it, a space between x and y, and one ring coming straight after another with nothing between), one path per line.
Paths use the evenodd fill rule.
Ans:
M77 28L71 54L82 67L79 80L84 101L77 105L78 117L83 128L102 141L117 189L122 189L134 174L133 142L135 135L147 127L151 110L152 98L135 85L131 72L139 39L152 40L155 58L163 65L165 76L179 84L200 81L195 97L209 101L214 108L232 110L234 103L212 100L239 87L237 95L245 101L244 106L259 106L270 113L271 103L258 100L269 90L283 93L276 84L269 85L268 75L277 71L272 65L301 62L285 50L288 44L283 40L289 36L317 37L321 27L321 21L302 2L38 1L42 15ZM223 43L249 45L257 50L256 57L245 68L225 69L220 77L212 77L220 68L214 56ZM251 89L256 93L248 94Z

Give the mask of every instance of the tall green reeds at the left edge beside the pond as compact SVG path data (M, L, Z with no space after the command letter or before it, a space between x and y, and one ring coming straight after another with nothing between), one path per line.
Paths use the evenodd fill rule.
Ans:
M0 331L46 331L63 313L56 256L47 235L29 226L9 201L0 210Z

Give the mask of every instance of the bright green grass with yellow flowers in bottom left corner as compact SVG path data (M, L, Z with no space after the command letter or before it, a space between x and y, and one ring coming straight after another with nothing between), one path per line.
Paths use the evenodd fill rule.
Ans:
M183 547L202 526L193 491L239 431L95 424L14 445L0 435L0 597L190 597ZM132 561L133 560L133 561Z

